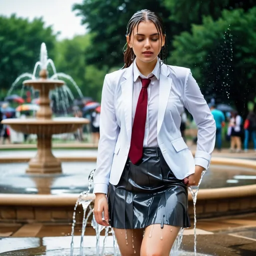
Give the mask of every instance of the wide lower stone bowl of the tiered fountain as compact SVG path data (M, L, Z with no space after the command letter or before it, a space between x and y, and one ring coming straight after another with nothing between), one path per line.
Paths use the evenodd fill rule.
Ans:
M1 123L7 124L17 132L24 134L42 134L47 136L74 132L81 127L81 125L89 123L89 120L79 117L57 117L52 119L8 118L2 120Z

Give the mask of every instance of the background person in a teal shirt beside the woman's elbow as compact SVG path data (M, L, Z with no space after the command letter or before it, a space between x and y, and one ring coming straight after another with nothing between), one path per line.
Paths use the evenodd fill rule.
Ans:
M222 111L215 108L214 104L211 105L210 111L216 123L216 142L217 149L220 151L222 145L222 127L225 126L225 116Z

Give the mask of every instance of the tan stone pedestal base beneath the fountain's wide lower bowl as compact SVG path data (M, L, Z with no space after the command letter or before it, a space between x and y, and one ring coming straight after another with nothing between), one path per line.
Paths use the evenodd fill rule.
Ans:
M28 162L28 173L61 173L61 162L51 151L51 135L37 134L37 153Z

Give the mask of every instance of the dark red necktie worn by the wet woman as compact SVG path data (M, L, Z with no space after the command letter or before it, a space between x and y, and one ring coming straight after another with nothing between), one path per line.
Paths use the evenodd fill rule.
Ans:
M152 78L153 76L149 77ZM138 102L136 106L135 116L133 120L130 140L129 158L130 161L135 164L137 163L143 153L143 140L145 133L146 123L146 109L147 109L147 87L150 83L149 78L141 78L142 88L139 92Z

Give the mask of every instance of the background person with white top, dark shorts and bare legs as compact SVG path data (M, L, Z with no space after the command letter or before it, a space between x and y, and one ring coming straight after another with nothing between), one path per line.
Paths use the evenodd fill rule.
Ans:
M241 152L241 136L242 136L242 130L241 130L241 124L242 124L242 118L238 114L237 111L231 112L231 118L229 121L228 126L231 127L231 134L230 134L230 152L235 151L239 153Z

